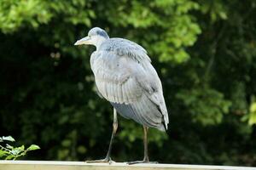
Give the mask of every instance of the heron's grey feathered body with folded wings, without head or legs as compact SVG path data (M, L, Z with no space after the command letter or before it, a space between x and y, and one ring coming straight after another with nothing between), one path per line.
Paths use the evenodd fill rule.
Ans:
M91 56L99 92L125 118L165 130L169 120L162 87L146 51L134 42L117 44L124 47L102 48Z

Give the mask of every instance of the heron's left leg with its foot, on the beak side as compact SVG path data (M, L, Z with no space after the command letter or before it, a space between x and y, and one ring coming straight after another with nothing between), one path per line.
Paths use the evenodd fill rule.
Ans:
M110 155L111 155L111 150L112 150L113 139L114 139L115 133L118 129L118 125L119 124L118 124L117 112L113 108L113 130L112 130L110 143L109 143L109 146L108 146L107 156L102 160L86 161L86 163L94 163L94 162L109 162L110 163L112 161Z

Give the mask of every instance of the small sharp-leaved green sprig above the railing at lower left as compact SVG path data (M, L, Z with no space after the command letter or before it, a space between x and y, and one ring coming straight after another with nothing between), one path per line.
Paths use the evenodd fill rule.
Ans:
M14 147L10 144L6 144L6 146L1 145L4 142L15 142L15 139L11 136L0 137L0 158L4 158L5 160L16 160L20 156L26 156L28 151L40 149L36 144L30 145L27 149L25 149L24 145L20 147Z

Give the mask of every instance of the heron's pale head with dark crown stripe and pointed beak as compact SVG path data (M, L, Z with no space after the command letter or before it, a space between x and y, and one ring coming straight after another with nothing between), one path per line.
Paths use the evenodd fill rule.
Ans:
M79 39L77 42L74 43L74 45L88 44L98 47L102 42L104 42L108 38L109 37L106 31L102 30L102 28L94 27L90 29L87 37Z

